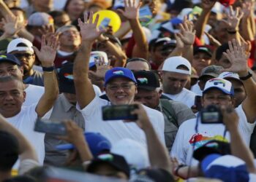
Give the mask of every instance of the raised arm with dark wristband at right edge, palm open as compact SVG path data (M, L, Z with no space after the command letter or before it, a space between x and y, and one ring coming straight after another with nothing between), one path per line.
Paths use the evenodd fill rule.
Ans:
M230 60L232 66L225 69L225 71L238 73L240 78L245 78L245 76L249 75L249 68L247 66L249 53L245 51L245 44L243 43L240 46L236 39L233 39L232 42L229 41L228 44L229 50L223 54ZM247 79L241 79L241 81L246 91L246 99L242 103L244 113L246 114L247 122L254 123L256 119L256 83L252 79L252 76Z

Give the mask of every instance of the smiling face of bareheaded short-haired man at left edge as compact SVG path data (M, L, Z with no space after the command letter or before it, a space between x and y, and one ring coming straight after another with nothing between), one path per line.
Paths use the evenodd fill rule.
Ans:
M18 114L25 101L26 93L23 83L18 80L0 83L0 113L4 117Z

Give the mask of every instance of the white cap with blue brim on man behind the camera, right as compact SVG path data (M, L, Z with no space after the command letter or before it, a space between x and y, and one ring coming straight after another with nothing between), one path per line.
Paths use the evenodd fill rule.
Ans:
M203 93L210 90L211 88L217 88L228 95L234 95L234 89L231 82L226 79L214 78L206 82L206 86L203 89Z

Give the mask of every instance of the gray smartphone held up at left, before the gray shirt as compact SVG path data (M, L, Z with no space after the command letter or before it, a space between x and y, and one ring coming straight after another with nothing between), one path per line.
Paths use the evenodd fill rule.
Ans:
M34 131L45 132L52 135L66 135L64 122L52 122L48 119L39 119L34 125Z

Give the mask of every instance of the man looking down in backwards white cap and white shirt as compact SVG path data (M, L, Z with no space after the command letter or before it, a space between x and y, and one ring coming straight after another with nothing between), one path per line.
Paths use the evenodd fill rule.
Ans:
M167 58L162 66L162 94L191 108L195 93L184 88L190 75L191 64L187 59L181 56Z

